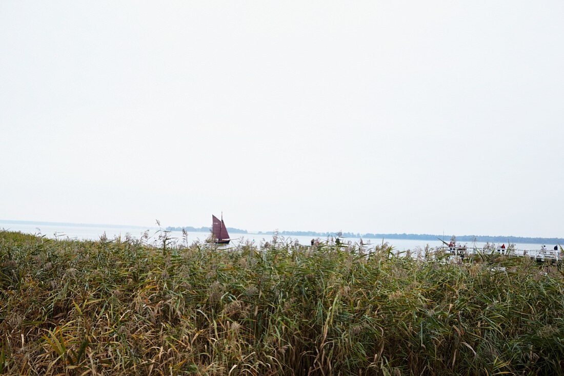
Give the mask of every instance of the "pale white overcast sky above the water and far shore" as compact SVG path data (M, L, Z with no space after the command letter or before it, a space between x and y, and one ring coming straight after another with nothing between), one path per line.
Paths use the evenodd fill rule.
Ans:
M564 2L0 2L0 219L564 236Z

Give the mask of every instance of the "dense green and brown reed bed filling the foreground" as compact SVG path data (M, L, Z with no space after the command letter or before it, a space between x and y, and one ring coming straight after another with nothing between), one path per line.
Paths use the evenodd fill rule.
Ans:
M564 374L564 274L387 245L0 231L0 374Z

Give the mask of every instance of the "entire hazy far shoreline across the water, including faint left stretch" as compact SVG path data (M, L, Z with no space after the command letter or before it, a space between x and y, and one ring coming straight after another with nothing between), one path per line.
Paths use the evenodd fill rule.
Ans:
M47 222L47 221L32 221L32 220L6 220L0 219L0 227L2 224L27 224L27 225L50 225L50 226L69 226L69 227L97 227L97 228L139 228L139 229L155 229L155 225L151 227L139 225L123 225L123 224L94 224L94 223L69 223L69 222ZM182 231L185 229L189 232L203 232L208 233L209 227L192 227L192 226L179 226L179 227L166 227L166 231ZM227 231L235 234L254 234L254 235L274 235L274 231L247 231L245 229L227 227ZM281 236L311 236L311 237L335 237L338 232L316 232L316 231L277 231ZM345 238L365 238L365 239L386 239L386 240L424 240L424 241L437 241L443 239L450 241L450 236L431 235L431 234L413 234L413 233L353 233L343 232L342 237ZM462 235L457 236L458 242L496 242L496 243L523 243L523 244L547 244L547 245L564 245L564 238L552 237L525 237L525 236L490 236L490 235Z

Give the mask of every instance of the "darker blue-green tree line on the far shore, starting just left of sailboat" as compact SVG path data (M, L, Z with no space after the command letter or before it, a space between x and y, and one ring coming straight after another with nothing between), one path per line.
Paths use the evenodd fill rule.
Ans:
M209 232L209 227L167 227L168 231L186 231L193 232ZM227 227L227 231L232 233L246 234L248 231L240 228ZM274 231L259 231L259 234L274 235ZM311 237L346 237L346 238L366 238L366 239L407 239L407 240L430 240L436 241L437 238L444 241L450 241L450 236L431 235L431 234L374 234L374 233L358 233L358 232L316 232L316 231L278 231L281 236L311 236ZM462 235L456 237L457 242L490 242L490 243L531 243L531 244L562 244L564 245L564 238L542 238L542 237L523 237L523 236L488 236L488 235Z

